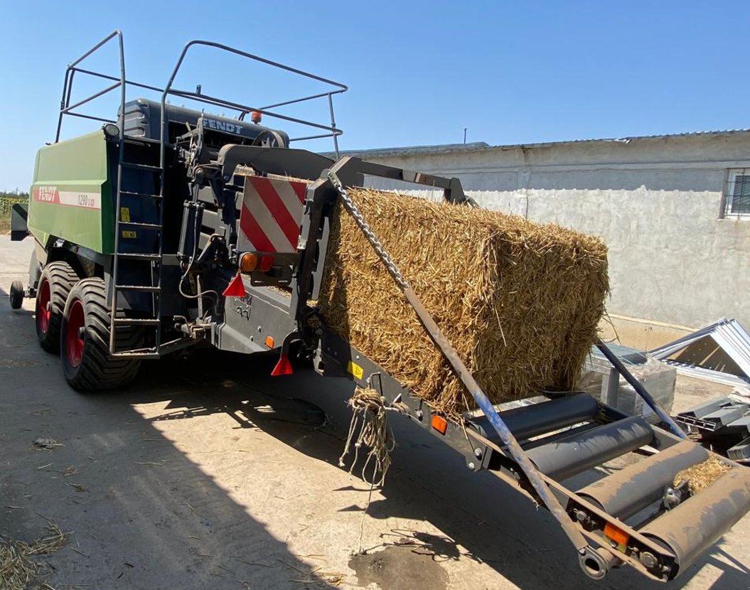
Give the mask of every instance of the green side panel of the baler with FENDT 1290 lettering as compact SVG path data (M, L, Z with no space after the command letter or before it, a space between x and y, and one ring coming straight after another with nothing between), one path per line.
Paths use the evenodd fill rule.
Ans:
M96 252L113 253L113 199L107 170L107 142L101 130L41 148L29 191L31 233L42 243L54 235Z

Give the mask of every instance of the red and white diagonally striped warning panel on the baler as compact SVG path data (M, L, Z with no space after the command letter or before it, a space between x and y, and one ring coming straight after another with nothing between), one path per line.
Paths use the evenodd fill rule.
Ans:
M239 216L240 252L296 252L304 182L248 176Z

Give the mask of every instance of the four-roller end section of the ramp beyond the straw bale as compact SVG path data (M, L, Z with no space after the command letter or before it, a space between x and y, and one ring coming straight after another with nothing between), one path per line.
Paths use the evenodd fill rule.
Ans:
M667 510L663 500L675 476L708 459L709 451L641 418L623 417L587 394L500 415L518 439L538 437L524 443L527 456L556 493L568 496L571 520L587 538L598 538L602 559L581 559L584 571L595 579L628 562L656 580L672 580L750 511L750 470L738 466L697 495L677 496L675 502L682 503ZM484 417L471 421L484 430ZM480 436L479 440L490 442L490 438ZM649 447L652 454L577 492L559 483L643 447ZM499 445L495 450L504 451ZM508 467L508 462L504 465ZM490 463L489 469L497 466L497 462ZM512 466L509 469L519 475ZM647 526L633 528L623 522L649 507L652 512L644 514L656 517Z

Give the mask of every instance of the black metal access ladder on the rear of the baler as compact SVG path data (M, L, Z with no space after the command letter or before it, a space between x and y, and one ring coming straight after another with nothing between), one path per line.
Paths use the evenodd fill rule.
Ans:
M161 276L162 276L162 247L163 247L163 178L164 168L160 164L130 162L125 160L125 145L130 144L153 144L159 145L157 139L143 137L122 136L119 145L119 157L117 166L117 198L115 199L115 252L113 256L112 280L110 283L110 355L115 358L159 358L161 346ZM127 170L128 178L144 180L149 187L158 187L151 192L140 192L139 190L123 190L123 172ZM143 178L145 177L145 178ZM151 202L157 210L157 223L145 223L144 221L133 221L130 217L130 209L123 206L123 197L130 202ZM142 210L142 209L141 209ZM145 240L134 241L138 244L136 250L123 250L123 240L133 237L139 231L155 232L156 239L151 242L151 247L145 247ZM130 265L130 274L133 268L137 268L136 274L147 276L143 282L135 283L133 280L126 281L122 276L122 262ZM142 269L142 271L141 271ZM145 317L128 317L124 307L120 306L121 298L128 293L148 293L151 295L150 315ZM143 340L127 337L133 328L142 328ZM125 336L123 338L123 336ZM137 345L136 345L137 343Z

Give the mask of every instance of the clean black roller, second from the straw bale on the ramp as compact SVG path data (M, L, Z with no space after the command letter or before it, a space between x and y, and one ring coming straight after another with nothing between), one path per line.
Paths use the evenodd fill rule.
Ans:
M631 416L532 448L526 454L539 471L563 480L648 445L652 440L649 424L643 418Z

